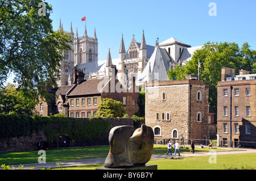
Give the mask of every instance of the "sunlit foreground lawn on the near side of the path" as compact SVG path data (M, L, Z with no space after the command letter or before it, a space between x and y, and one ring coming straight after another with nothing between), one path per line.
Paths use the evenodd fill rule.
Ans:
M209 163L210 156L178 157L175 159L151 159L147 164L158 165L158 170L253 170L256 169L256 153L217 155L216 163ZM63 170L95 170L103 164L63 167ZM59 169L53 169L59 170Z

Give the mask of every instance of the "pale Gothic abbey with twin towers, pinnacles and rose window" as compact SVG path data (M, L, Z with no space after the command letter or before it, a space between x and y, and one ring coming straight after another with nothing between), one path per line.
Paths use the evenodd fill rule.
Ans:
M58 31L64 31L61 21ZM106 60L98 61L98 39L95 29L93 37L89 37L85 25L84 35L79 36L77 29L76 35L74 34L71 23L70 30L64 32L72 36L73 44L70 44L71 50L63 51L64 60L61 61L58 86L72 85L75 69L81 69L85 73L85 79L102 78L109 75L109 68L112 65L116 66L117 78L123 86L129 86L132 77L135 77L138 86L148 81L168 81L167 71L176 65L184 65L191 59L193 52L202 47L191 47L174 37L162 43L158 43L157 40L155 45L147 45L143 30L141 41L137 42L133 35L127 49L122 35L118 58L111 58L109 49Z

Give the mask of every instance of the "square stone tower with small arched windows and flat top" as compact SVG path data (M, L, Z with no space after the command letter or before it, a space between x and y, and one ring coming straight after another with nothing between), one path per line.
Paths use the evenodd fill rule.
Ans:
M187 75L181 81L147 83L145 87L145 123L155 134L155 140L209 139L209 86L197 81L197 75Z

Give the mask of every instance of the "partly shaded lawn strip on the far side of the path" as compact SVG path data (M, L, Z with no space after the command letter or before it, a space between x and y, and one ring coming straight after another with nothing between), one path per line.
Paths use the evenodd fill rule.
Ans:
M196 148L195 151L209 151L208 148ZM214 149L225 150L225 149ZM189 149L180 149L180 153L188 152ZM109 146L90 146L84 148L66 148L46 150L46 162L71 161L77 159L106 158ZM154 145L153 154L166 154L167 145ZM172 150L174 153L174 149ZM38 163L38 151L17 151L0 153L0 165L20 165Z

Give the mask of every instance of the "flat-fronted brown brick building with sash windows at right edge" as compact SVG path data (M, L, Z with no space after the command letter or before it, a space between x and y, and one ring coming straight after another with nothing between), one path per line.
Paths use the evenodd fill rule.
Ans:
M218 82L218 144L232 147L254 147L256 141L256 74L222 68Z

